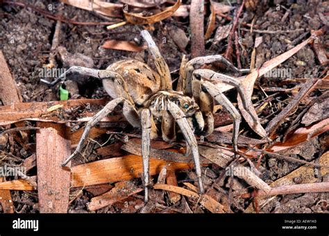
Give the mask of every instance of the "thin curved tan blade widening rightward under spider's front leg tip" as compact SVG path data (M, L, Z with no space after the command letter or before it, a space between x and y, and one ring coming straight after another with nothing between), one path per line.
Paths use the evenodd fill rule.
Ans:
M221 203L217 202L216 200L212 199L210 196L208 195L199 195L196 194L196 192L192 192L188 189L185 189L183 187L177 187L177 186L173 186L173 185L161 185L161 184L155 184L153 186L154 189L162 189L162 190L167 190L170 192L176 192L178 194L187 196L189 198L195 198L195 199L199 199L199 203L201 205L203 205L205 208L207 208L207 210L209 210L212 213L224 213L223 209L224 206L221 205Z

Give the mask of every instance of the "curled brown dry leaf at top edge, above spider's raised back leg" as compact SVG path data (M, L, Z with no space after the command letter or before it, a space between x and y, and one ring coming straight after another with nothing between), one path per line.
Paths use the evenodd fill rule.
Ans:
M126 10L124 10L124 16L126 17L126 21L131 24L154 24L155 22L160 22L163 19L171 17L171 15L173 15L174 12L176 12L179 6L180 6L180 0L178 0L175 3L175 5L172 6L171 8L167 8L163 12L152 15L151 17L143 17L138 13L129 13Z

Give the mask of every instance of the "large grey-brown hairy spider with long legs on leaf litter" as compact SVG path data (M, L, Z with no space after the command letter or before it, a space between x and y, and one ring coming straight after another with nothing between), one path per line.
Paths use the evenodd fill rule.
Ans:
M211 81L225 83L237 88L242 97L243 106L248 111L252 105L239 80L236 78L216 73L210 69L195 69L212 62L223 62L227 67L241 74L246 70L239 70L228 60L220 55L204 56L189 60L182 67L180 81L183 81L183 92L175 91L171 85L169 67L162 58L158 47L155 45L148 31L140 33L148 44L149 52L153 57L157 71L153 71L144 62L138 60L121 60L106 69L90 69L86 67L70 67L64 74L52 83L42 80L48 85L55 85L60 80L65 80L69 74L81 74L99 78L103 87L112 97L102 110L87 122L78 146L62 166L67 165L71 158L80 153L83 143L87 139L90 129L101 119L106 117L116 106L122 104L122 112L127 121L133 126L142 128L142 156L143 178L145 187L145 201L149 200L149 157L151 139L158 137L161 129L162 139L170 142L176 138L176 123L185 137L187 151L192 152L196 176L199 182L199 192L203 193L201 181L201 167L199 160L197 135L209 135L214 129L213 106L214 101L221 104L233 117L233 149L237 151L237 137L241 115L219 87ZM251 117L253 114L249 112ZM253 117L256 119L256 117Z

